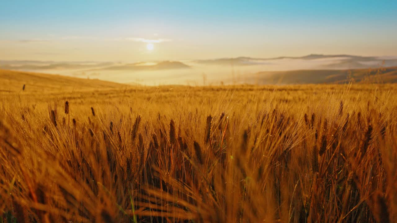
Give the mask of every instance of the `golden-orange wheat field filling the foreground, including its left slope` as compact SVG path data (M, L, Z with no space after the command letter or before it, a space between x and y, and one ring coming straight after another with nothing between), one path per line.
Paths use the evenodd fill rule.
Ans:
M395 84L1 72L0 222L397 222Z

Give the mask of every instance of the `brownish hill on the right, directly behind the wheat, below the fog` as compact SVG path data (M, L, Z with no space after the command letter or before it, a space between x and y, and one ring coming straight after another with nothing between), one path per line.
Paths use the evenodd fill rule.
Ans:
M262 71L245 77L247 83L258 84L320 84L349 81L397 83L397 67L382 69Z

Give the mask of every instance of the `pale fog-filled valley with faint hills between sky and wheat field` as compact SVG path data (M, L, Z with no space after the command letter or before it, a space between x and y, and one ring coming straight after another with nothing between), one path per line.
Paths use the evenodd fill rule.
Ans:
M43 62L1 61L0 69L33 71L100 79L131 85L222 85L270 84L266 71L347 70L390 67L397 58L350 55L318 55L279 58L221 58L161 62ZM288 75L294 75L294 73ZM272 84L283 84L280 73L272 73ZM336 74L336 73L335 73ZM327 72L327 75L335 75ZM279 75L279 77L278 77ZM297 74L298 75L298 74ZM315 75L315 74L314 74ZM299 78L299 77L298 77ZM299 81L299 79L297 79ZM306 82L310 83L310 79Z

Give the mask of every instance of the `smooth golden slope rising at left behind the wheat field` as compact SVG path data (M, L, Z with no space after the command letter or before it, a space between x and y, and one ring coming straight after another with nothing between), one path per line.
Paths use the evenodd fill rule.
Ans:
M0 83L0 92L19 92L22 91L23 85L25 85L25 92L120 88L126 86L97 79L81 79L61 75L10 70L0 70Z

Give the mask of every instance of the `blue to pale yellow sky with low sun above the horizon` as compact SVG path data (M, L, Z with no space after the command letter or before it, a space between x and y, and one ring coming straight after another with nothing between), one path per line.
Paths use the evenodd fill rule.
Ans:
M396 12L395 0L4 0L0 60L396 56Z

